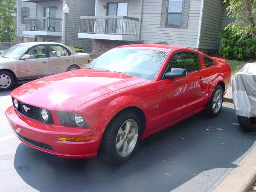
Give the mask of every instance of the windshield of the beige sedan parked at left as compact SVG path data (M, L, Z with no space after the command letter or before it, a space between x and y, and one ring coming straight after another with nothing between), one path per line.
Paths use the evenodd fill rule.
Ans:
M4 58L18 58L21 54L26 52L26 50L29 48L28 45L14 45L11 48L4 51L0 57Z

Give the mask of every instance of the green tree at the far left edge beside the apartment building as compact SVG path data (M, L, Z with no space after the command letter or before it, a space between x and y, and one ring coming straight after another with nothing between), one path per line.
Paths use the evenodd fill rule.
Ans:
M16 23L12 17L15 6L16 0L0 0L0 42L16 39Z

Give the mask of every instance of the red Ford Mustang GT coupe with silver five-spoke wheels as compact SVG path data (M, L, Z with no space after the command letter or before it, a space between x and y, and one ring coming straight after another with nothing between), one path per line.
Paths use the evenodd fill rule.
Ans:
M24 84L6 110L21 142L67 158L124 163L143 140L200 111L221 110L227 61L184 47L117 47L85 69Z

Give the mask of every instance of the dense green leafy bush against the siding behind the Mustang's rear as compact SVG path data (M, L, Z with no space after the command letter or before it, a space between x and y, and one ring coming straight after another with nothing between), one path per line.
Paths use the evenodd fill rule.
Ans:
M235 35L230 29L219 34L221 47L219 54L230 59L252 58L256 52L256 41L253 35Z

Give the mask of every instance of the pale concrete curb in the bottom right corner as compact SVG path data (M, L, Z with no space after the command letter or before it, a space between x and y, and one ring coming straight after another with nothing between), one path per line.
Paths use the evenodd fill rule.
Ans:
M256 180L256 144L213 192L247 192ZM230 189L230 186L232 189Z

